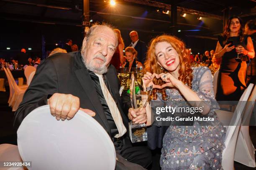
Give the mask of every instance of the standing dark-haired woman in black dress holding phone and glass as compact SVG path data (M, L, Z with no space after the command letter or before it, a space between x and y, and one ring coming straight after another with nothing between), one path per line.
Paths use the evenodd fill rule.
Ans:
M237 60L237 56L241 60ZM221 58L216 100L237 101L246 88L246 60L254 57L251 37L244 35L239 17L229 18L224 33L218 37L216 59Z

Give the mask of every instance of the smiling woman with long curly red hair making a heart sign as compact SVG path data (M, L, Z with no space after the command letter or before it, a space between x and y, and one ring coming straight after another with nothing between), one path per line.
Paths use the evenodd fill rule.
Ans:
M175 101L187 101L189 104L197 101L204 103L199 116L214 118L207 125L199 121L192 122L191 126L171 123L163 138L162 170L222 169L226 130L214 112L218 109L218 103L209 68L191 67L184 43L176 37L161 35L151 40L144 70L143 83L146 87L153 85L153 101L166 106L174 106ZM188 104L184 104L184 107L186 105L190 107ZM148 124L151 117L147 115ZM184 113L175 112L174 115L184 116Z

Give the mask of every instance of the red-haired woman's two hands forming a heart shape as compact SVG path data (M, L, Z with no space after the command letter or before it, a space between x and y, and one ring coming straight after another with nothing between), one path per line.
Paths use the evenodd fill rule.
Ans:
M156 77L157 79L161 78L166 83L163 85L155 85L153 82L154 77ZM175 78L170 73L151 74L150 72L146 72L146 74L144 74L144 76L142 77L142 81L143 81L143 87L149 87L153 85L153 88L158 88L158 89L161 89L164 87L174 87L174 86L176 87L177 84L180 82L180 80Z

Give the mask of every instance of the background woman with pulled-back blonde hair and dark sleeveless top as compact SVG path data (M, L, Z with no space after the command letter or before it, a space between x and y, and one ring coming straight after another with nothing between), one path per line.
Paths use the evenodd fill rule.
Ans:
M142 63L137 61L137 51L133 47L126 47L125 48L125 57L127 62L123 64L123 67L129 68L129 71L131 71L131 68L137 67L143 67Z

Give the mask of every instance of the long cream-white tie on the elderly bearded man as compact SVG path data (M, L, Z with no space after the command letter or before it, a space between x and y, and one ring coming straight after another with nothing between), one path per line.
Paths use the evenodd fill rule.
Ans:
M108 91L107 86L104 83L102 75L98 75L96 73L95 73L95 75L97 75L99 77L101 90L102 90L104 98L108 104L108 107L109 107L110 113L114 119L115 125L118 128L118 134L115 135L115 138L119 138L126 133L126 128L123 125L123 120L122 120L121 114L118 110L117 105L115 104L115 100L113 99L112 95Z

